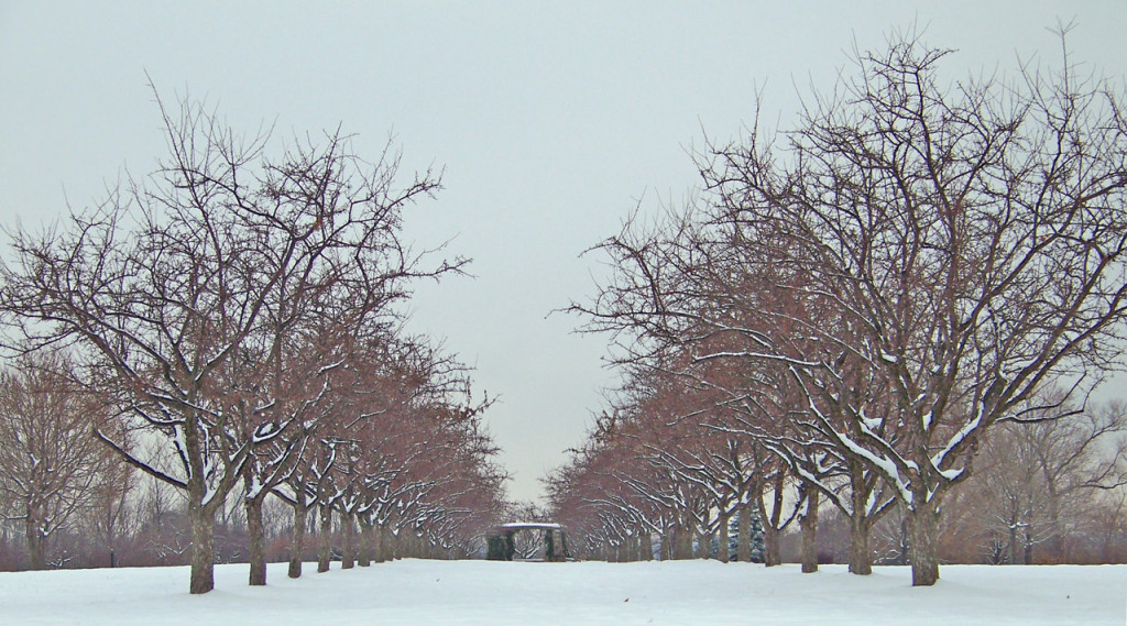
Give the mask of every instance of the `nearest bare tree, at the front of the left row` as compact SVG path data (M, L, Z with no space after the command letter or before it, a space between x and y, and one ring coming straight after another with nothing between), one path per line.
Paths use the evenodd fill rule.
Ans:
M438 181L426 172L399 188L393 155L367 163L339 133L299 140L272 160L267 135L245 141L202 105L175 116L161 105L161 115L169 155L152 177L63 227L14 233L0 310L33 343L76 345L139 423L165 436L175 472L103 439L188 494L189 590L204 593L214 587L215 512L252 448L284 431L284 415L269 414L249 432L239 428L230 409L261 414L263 399L224 384L224 368L252 338L286 336L267 321L301 319L266 315L283 296L372 270L385 287L373 297L398 293L419 261L397 238L400 213Z

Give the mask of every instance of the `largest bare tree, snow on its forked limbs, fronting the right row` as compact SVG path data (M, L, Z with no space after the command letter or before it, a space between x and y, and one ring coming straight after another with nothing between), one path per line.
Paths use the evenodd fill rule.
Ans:
M825 445L903 504L917 585L938 580L941 503L979 439L1045 419L1038 388L1083 394L1119 367L1127 316L1121 93L1067 55L1056 73L948 86L947 55L894 38L793 131L710 144L702 206L606 242L620 274L577 307L644 338L633 350L738 332L748 349L700 358L784 365ZM740 290L762 323L725 314ZM780 306L795 301L833 315ZM863 381L886 400L842 393Z

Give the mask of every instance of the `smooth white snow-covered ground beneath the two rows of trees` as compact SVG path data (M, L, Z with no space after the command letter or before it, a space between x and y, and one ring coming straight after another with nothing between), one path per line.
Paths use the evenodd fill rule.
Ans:
M334 564L337 565L337 564ZM931 589L904 567L717 562L399 561L250 588L243 565L188 596L186 567L0 573L0 624L1116 624L1127 566L944 566Z

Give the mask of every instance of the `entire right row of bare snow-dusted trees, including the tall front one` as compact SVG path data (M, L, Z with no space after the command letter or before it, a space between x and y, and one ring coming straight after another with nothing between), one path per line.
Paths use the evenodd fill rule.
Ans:
M913 584L938 580L944 503L990 435L1086 414L1127 316L1121 91L1067 54L947 82L948 54L914 36L858 53L793 129L708 142L694 202L597 247L613 275L573 310L639 391L602 429L629 444L596 436L577 466L659 459L646 498L682 517L757 502L769 563L770 537L828 502L868 573L896 508Z

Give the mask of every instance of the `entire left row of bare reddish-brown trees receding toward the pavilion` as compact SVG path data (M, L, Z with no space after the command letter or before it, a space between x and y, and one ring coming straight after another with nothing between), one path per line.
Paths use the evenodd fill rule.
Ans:
M168 157L153 175L12 232L0 315L9 347L41 356L10 376L51 372L100 403L101 445L184 494L193 593L214 585L214 519L232 493L251 584L265 583L270 494L294 508L295 554L313 507L326 527L340 513L349 542L354 520L371 542L398 526L442 543L491 521L503 475L480 423L488 401L401 323L411 281L465 262L399 236L402 212L440 178L403 182L397 154L365 161L339 132L275 158L268 134L240 136L203 105L160 111ZM27 510L32 528L44 516Z

